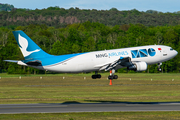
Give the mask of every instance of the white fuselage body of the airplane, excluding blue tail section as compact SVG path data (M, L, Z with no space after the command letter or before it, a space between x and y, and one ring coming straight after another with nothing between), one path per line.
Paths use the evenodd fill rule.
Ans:
M171 47L150 45L83 53L60 63L35 68L65 73L91 72L101 70L103 66L113 63L120 57L130 57L132 62L143 61L149 65L170 60L176 55L177 51Z

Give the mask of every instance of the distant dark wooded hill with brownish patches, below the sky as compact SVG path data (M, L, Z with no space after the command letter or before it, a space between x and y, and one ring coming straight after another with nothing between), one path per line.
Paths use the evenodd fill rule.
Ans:
M47 9L12 9L13 5L4 4L0 12L0 26L25 26L30 24L46 24L47 26L66 27L73 23L86 21L99 22L108 26L124 24L143 24L145 26L164 26L180 24L180 14L162 13L155 10L140 12L136 9L119 11L116 8L110 10L96 9L64 9L49 7ZM9 8L8 8L9 7ZM11 9L10 9L11 8Z

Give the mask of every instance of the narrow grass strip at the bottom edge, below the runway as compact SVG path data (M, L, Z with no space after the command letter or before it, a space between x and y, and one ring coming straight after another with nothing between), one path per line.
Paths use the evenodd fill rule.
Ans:
M2 114L2 120L179 120L180 112L91 112Z

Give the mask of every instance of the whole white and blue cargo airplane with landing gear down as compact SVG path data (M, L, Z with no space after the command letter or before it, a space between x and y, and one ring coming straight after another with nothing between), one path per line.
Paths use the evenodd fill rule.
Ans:
M145 71L147 65L158 63L161 71L162 62L175 57L178 52L169 46L149 45L113 50L102 50L67 55L50 55L44 52L23 31L13 31L14 37L21 49L24 60L5 60L19 65L34 67L41 70L78 73L95 71L93 79L101 78L98 71L111 71L109 79L117 79L115 70L127 67L128 70Z

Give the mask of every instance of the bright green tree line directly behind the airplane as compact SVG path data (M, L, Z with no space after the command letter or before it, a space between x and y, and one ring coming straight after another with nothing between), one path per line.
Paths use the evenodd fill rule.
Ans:
M17 26L13 30L23 30L44 51L53 55L63 55L97 50L108 50L143 45L167 45L180 53L180 25L145 26L124 24L108 26L99 22L84 22L56 28L45 24ZM12 34L11 28L0 27L0 72L45 73L30 67L4 62L3 60L24 59ZM162 72L180 72L180 55L163 62ZM133 72L119 69L118 72ZM145 72L157 73L157 65L149 65Z

